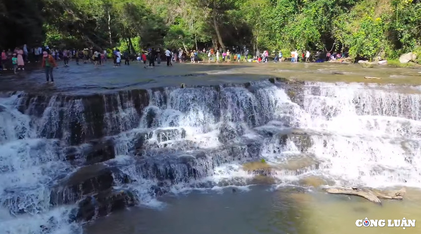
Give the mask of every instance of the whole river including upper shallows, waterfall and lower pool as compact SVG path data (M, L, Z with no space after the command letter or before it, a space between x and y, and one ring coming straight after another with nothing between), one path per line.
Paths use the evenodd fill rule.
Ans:
M325 82L363 81L357 65L214 66L154 72L165 87L130 67L120 86L3 91L0 233L419 233L355 225L421 220L421 86L401 77L415 69L381 68L401 81L385 84ZM330 185L407 194L380 206Z

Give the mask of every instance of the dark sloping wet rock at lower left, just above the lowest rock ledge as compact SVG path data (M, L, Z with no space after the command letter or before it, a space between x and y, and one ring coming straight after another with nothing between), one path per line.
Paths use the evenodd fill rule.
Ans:
M111 169L104 165L83 167L52 189L50 203L52 205L73 203L85 195L109 189L113 181Z

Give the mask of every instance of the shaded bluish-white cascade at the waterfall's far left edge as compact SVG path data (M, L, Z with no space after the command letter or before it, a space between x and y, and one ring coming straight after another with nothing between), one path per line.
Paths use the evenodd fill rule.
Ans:
M68 222L71 206L53 208L49 201L49 184L70 166L58 153L58 141L37 137L44 119L33 124L36 120L15 108L19 95L0 98L4 108L0 112L0 232L81 232L78 225Z

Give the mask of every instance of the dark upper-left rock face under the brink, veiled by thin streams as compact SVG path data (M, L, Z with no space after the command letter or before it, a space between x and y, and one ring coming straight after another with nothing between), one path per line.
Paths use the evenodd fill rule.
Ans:
M148 91L134 89L88 96L23 94L18 109L41 118L40 137L79 145L134 128L148 104Z

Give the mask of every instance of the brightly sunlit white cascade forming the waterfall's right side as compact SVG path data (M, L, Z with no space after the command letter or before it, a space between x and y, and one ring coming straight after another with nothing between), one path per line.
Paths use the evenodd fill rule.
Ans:
M309 150L339 183L421 186L421 95L394 86L316 83L302 126L318 131Z

